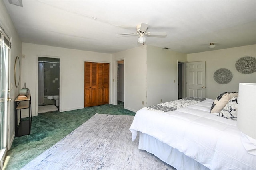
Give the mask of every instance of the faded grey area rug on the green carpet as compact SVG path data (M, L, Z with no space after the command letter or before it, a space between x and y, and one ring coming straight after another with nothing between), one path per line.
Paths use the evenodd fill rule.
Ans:
M138 149L129 127L134 116L95 114L58 143L40 154L24 170L174 170Z

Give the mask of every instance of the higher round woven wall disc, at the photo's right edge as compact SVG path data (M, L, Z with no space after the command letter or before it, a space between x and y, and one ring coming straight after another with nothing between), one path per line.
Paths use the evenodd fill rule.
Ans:
M256 58L245 56L236 61L236 70L243 74L252 74L256 72Z

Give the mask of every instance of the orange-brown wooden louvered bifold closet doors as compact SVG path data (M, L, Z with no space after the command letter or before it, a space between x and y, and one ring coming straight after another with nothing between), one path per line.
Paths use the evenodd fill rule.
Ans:
M109 103L109 64L84 62L84 107Z

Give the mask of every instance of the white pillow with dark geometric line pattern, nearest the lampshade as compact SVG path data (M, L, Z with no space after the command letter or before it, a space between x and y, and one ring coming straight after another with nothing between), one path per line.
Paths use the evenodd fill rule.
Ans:
M237 119L237 109L238 109L238 98L233 97L228 101L226 106L220 111L218 116L224 117L226 119Z

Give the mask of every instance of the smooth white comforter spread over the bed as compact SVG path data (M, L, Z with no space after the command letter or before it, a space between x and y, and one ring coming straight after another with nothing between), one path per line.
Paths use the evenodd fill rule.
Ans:
M140 131L211 170L255 170L256 156L244 149L236 121L210 113L212 102L206 99L165 113L140 109L130 127L132 140Z

